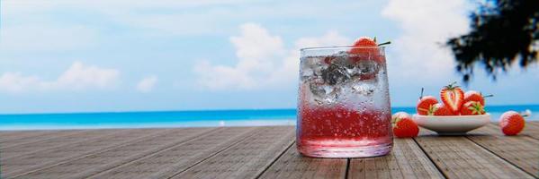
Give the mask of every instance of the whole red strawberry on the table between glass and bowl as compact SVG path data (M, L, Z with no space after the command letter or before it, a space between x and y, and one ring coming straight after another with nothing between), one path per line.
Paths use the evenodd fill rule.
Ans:
M395 114L397 115L397 114ZM393 133L399 138L417 137L419 127L411 116L403 113L395 116L395 124L393 125Z

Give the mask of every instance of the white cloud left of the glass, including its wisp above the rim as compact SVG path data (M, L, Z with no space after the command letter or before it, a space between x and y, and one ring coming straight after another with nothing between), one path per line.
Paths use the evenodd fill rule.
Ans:
M228 66L202 61L194 67L203 87L245 90L291 84L298 78L301 47L336 46L349 42L336 31L329 31L320 38L300 38L295 47L285 49L282 38L272 36L258 24L246 23L240 29L239 37L230 38L236 47L237 64Z

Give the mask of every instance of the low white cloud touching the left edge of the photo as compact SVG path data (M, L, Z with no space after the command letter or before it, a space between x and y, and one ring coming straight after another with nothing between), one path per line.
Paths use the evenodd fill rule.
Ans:
M118 83L120 72L75 62L54 81L21 72L4 72L0 76L0 91L24 92L31 90L86 90L111 89Z

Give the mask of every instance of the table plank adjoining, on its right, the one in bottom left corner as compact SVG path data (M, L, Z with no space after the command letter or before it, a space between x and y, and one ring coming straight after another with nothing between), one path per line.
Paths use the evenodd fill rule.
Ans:
M199 137L218 128L174 129L168 132L134 141L118 148L104 149L98 153L87 155L54 166L43 167L19 178L86 178L101 171L110 169L132 160L143 158L161 149L172 147L183 141Z

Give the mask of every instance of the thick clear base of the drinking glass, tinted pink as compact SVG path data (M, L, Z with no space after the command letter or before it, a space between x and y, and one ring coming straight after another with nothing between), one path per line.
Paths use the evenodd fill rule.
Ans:
M298 146L300 153L312 158L370 158L391 152L392 142L362 147L335 147L319 145Z

